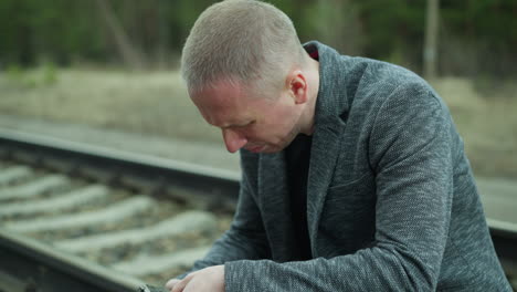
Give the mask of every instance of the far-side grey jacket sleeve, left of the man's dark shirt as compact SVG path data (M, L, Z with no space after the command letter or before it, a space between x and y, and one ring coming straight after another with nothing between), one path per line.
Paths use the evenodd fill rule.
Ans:
M249 159L249 154L241 154L242 179L239 201L230 229L218 239L207 255L198 260L188 273L207 267L223 264L228 261L257 260L271 258L270 246L265 236L261 213L255 196L256 164ZM184 273L179 279L184 278Z

